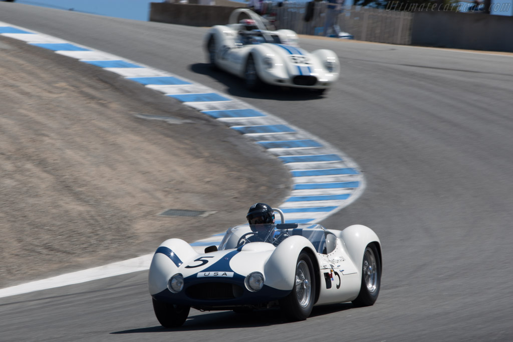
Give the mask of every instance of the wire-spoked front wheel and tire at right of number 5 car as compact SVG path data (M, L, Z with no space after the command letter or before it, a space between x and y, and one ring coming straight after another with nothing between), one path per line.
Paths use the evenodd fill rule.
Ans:
M305 279L308 280L305 283ZM310 256L301 252L295 266L295 284L292 292L282 300L280 307L290 320L304 320L310 316L315 300L315 273Z

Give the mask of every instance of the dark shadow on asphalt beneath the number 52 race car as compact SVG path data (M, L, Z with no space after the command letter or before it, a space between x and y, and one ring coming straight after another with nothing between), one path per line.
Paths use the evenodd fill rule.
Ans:
M196 63L189 66L192 72L212 77L228 87L228 94L239 97L273 99L282 101L301 101L324 98L324 95L315 93L311 89L297 89L264 85L259 92L246 89L244 80L219 69L213 69L208 63ZM329 92L329 90L328 90Z

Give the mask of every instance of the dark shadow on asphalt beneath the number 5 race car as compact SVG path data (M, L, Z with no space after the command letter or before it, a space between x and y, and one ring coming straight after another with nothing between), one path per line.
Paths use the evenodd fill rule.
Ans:
M354 308L350 303L333 304L313 308L310 319L328 314L342 313ZM155 318L156 319L156 318ZM137 328L111 332L111 334L135 334L168 331L219 330L233 328L256 328L281 324L300 324L286 320L280 309L255 310L246 313L233 311L216 311L190 316L182 327L166 329L162 326Z

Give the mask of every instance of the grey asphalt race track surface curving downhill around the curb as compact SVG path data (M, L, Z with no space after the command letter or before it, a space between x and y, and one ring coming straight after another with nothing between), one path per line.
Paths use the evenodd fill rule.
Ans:
M297 323L192 310L166 330L140 272L2 298L0 340L513 340L513 56L302 38L337 52L337 86L255 95L207 68L205 28L4 3L0 21L183 75L327 140L367 188L323 224L367 225L384 249L373 307L316 308Z

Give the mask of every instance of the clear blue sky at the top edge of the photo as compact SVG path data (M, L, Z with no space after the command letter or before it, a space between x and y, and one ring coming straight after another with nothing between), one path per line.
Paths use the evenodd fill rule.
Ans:
M234 0L244 3L244 0ZM292 0L304 3L308 0ZM347 3L353 0L346 0ZM470 1L470 0L468 0ZM150 3L162 2L161 0L15 0L16 3L50 7L61 10L73 10L77 12L100 14L126 19L148 21ZM509 5L508 11L496 12L494 4ZM513 0L492 0L492 14L513 15Z

